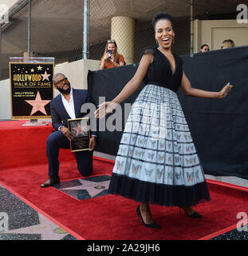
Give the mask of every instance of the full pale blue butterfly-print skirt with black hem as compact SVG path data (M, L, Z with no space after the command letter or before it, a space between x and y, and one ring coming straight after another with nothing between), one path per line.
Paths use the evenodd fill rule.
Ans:
M147 85L136 98L108 192L160 206L195 206L211 200L174 91Z

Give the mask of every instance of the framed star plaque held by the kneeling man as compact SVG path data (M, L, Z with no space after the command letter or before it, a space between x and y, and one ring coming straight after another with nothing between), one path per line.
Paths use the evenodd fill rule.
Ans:
M89 150L89 118L68 119L68 127L73 134L70 141L72 152Z

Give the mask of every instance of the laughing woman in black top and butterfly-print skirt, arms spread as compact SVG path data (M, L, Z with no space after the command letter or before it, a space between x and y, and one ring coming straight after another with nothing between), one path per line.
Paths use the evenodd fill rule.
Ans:
M96 117L111 113L116 105L135 92L144 80L128 116L108 192L132 198L140 205L137 213L144 226L159 227L150 204L179 206L188 217L199 218L191 206L210 201L207 182L199 162L187 121L175 92L179 87L189 96L225 98L232 86L219 92L191 87L183 72L183 61L171 53L174 40L170 14L152 20L159 47L144 49L134 77L112 100L100 104Z

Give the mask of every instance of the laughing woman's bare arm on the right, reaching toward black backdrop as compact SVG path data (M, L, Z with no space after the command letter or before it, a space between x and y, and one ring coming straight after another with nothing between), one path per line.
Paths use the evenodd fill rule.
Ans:
M187 78L186 74L183 72L183 78L181 82L181 89L185 94L192 97L199 97L199 98L225 98L228 92L233 88L233 86L227 84L222 88L222 90L215 92L215 91L207 91L207 90L200 90L195 89L191 86L191 82Z

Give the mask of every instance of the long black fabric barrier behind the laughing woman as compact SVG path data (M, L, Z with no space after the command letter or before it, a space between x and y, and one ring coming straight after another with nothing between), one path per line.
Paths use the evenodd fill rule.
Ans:
M192 87L218 91L227 82L234 86L224 99L193 98L178 91L205 174L248 179L248 46L181 57ZM101 102L115 98L137 66L89 71L89 93L96 103L100 103L99 97L105 97ZM124 103L134 102L143 87L121 104L122 130L128 118ZM122 131L100 131L96 150L116 155L121 135Z

